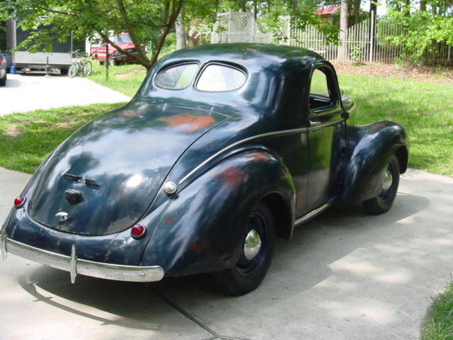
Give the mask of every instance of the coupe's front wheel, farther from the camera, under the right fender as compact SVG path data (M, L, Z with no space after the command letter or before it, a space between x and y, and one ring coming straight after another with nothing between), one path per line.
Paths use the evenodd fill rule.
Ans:
M365 210L372 215L380 215L390 210L391 205L394 204L396 193L399 185L399 163L396 156L392 156L387 165L386 173L384 176L384 183L382 184L382 191L378 196L374 196L369 200L363 202Z

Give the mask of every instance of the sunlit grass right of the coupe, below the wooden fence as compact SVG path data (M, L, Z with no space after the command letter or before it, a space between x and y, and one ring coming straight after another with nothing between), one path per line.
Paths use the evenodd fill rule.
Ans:
M340 75L357 123L393 120L406 128L410 166L453 176L453 84Z

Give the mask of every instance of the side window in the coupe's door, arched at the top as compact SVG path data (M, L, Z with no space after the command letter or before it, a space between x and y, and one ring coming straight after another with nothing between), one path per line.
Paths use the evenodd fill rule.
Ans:
M333 75L329 69L315 69L310 83L310 108L319 109L332 106L336 102L334 86Z

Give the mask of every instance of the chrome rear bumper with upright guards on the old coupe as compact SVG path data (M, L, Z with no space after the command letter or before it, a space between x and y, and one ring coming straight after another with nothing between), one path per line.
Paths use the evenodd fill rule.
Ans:
M46 266L69 271L71 273L71 283L76 281L77 274L132 282L159 281L164 277L164 270L160 266L123 266L77 259L76 246L74 244L71 248L71 256L28 246L13 239L8 239L5 229L4 227L0 233L2 259L6 259L6 254L11 253Z

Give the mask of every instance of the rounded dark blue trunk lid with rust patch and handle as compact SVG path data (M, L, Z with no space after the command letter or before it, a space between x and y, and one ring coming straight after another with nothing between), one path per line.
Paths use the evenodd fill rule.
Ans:
M92 120L49 160L33 191L30 216L75 234L127 229L147 211L181 154L226 118L135 102Z

